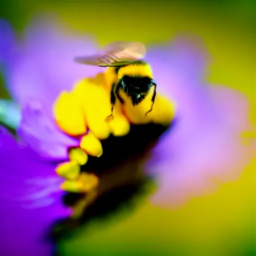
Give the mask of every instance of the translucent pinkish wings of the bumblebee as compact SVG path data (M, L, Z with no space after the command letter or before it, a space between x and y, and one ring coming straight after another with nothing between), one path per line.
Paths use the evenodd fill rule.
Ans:
M105 49L91 56L75 57L75 62L97 66L123 66L142 59L146 48L141 42L115 41Z

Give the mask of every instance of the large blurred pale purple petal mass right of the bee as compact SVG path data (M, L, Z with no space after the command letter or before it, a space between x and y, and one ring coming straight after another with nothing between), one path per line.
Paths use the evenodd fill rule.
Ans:
M202 82L208 57L198 43L178 38L151 48L147 59L158 93L177 104L177 124L153 148L145 170L159 181L153 201L177 206L214 191L216 180L237 178L256 153L255 140L245 144L240 134L256 129L244 95Z

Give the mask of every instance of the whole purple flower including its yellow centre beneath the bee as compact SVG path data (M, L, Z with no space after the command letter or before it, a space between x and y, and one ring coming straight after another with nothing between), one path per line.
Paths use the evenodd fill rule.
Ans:
M25 219L23 223L27 224L27 218L32 219L34 216L44 220L43 223L38 223L38 229L34 227L36 232L38 231L34 236L38 237L45 224L66 214L66 209L59 201L59 185L62 180L54 173L56 165L57 173L67 179L62 183L62 188L94 193L94 186L100 186L100 177L106 178L107 175L101 174L99 179L89 172L79 175L80 165L86 163L88 154L102 154L103 141L99 141L99 138L105 139L110 132L116 136L129 134L130 126L127 118L122 118L118 107L116 114L119 114L120 118L117 123L114 121L118 118L114 118L109 120L109 125L104 128L102 116L105 114L100 116L100 119L93 118L95 111L98 110L97 113L101 115L101 111L108 112L109 109L97 109L97 104L91 100L92 95L97 94L101 97L100 102L103 102L101 106L109 104L106 101L107 87L101 94L98 93L100 88L97 85L104 84L100 80L104 75L98 74L102 69L72 62L75 55L96 51L92 40L75 34L63 35L59 32L61 28L53 27L52 22L32 24L27 28L25 40L20 45L14 41L9 25L5 21L0 22L0 34L5 35L1 36L4 40L0 44L0 61L8 89L21 107L21 120L17 128L19 141L5 129L1 131L0 169L3 176L1 182L5 183L1 189L16 192L18 195L16 197L10 194L10 198L18 201L25 198L36 207L48 205L43 210L31 211L23 209L23 203L6 203L9 209L14 207L17 211L22 208ZM248 105L243 95L223 86L208 86L203 81L206 56L197 44L186 43L183 38L178 38L171 45L149 49L146 60L152 66L159 98L164 101L161 97L164 95L177 103L177 122L158 139L149 151L149 158L139 158L138 165L142 165L144 172L153 174L159 182L159 189L152 198L154 202L173 206L187 201L191 196L207 192L208 188L212 188L212 178L230 180L236 177L255 153L251 144L242 144L239 135L243 130L253 127L250 127L248 122ZM87 97L87 100L82 101L81 95ZM168 106L168 114L152 113L151 117L149 115L149 119L143 122L154 120L168 123L173 117L174 108L173 104L168 105L166 101L164 105ZM157 108L162 106L161 104L156 103L155 106L156 112L157 109L163 112L167 109ZM141 120L141 109L133 112L134 109L127 105L124 108L125 116L129 117L130 122L138 123ZM138 118L137 113L140 116ZM170 118L167 118L168 121L164 118L157 119L162 116ZM71 117L72 122L68 121ZM86 126L89 127L88 133ZM143 133L148 136L150 129L149 133L144 130ZM133 145L137 143L132 148L136 152L136 147L140 145L139 137L132 142ZM124 144L119 143L119 146L120 150L126 152ZM93 163L102 159L103 155ZM117 159L111 161L115 163ZM136 170L132 164L133 158L128 169ZM118 174L119 171L114 172L115 177ZM126 177L122 177L121 173L119 175L120 180L115 182L124 184ZM14 185L14 180L6 182L11 176L18 177L18 180L15 180L17 185ZM130 177L130 180L133 178ZM86 180L90 182L86 183ZM43 189L39 192L31 192L40 186ZM111 188L111 185L101 187L101 193ZM24 197L21 197L21 194L24 194ZM83 207L86 201L82 202ZM81 207L78 207L79 209ZM5 212L3 219L8 219L8 209ZM38 215L42 212L43 216ZM36 219L32 219L31 223L34 222ZM24 244L28 243L28 239L32 239L32 236L29 236Z

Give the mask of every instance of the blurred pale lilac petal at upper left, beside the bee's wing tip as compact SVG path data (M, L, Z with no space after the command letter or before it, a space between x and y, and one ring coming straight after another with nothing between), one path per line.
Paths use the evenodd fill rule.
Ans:
M51 17L32 20L19 55L8 68L7 85L12 96L21 104L27 96L42 98L51 111L52 102L61 90L70 89L77 79L103 70L73 61L76 55L96 50L91 38L64 30Z

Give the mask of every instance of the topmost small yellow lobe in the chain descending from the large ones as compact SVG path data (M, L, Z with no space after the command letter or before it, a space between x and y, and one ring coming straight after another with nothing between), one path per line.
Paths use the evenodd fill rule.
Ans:
M100 156L102 154L102 145L96 136L89 131L80 140L80 147L87 154L92 156Z

